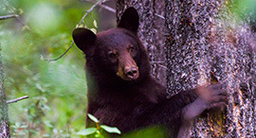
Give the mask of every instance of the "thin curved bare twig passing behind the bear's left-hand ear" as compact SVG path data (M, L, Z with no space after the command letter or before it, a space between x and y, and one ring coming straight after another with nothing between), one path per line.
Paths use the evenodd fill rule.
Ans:
M86 11L86 13L82 16L82 19L80 20L80 22L79 22L79 24L78 24L77 27L81 26L81 24L82 24L84 18L85 18L89 13L91 13L93 9L95 9L97 6L101 5L102 3L106 2L106 1L107 1L107 0L98 1L98 2L95 3L90 9L88 9L88 10ZM69 51L69 49L72 48L73 45L74 45L74 41L72 41L72 43L70 44L70 46L64 51L64 54L61 55L59 58L53 59L53 60L47 60L47 61L54 61L54 60L59 60L59 59L63 58L64 55ZM43 56L41 56L41 57L43 58L43 60L46 60Z

